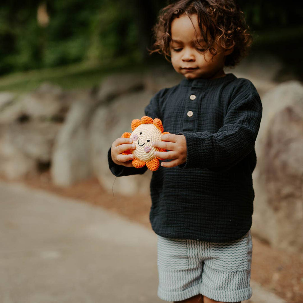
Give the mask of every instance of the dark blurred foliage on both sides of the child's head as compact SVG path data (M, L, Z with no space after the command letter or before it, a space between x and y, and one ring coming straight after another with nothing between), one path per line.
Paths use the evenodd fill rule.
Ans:
M11 0L0 6L0 75L89 62L108 66L119 58L141 64L152 43L161 0ZM46 4L49 22L37 21ZM284 2L238 1L255 32L302 24L302 8ZM125 60L121 60L125 58Z

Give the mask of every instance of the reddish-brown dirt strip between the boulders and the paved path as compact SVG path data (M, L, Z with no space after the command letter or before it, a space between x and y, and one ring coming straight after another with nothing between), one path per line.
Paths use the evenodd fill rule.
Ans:
M67 188L60 188L52 184L47 171L39 176L28 177L22 182L33 188L81 199L87 203L104 207L151 228L149 222L150 198L146 199L146 196L124 197L115 193L107 193L96 178ZM303 252L290 253L273 249L253 235L251 278L265 289L284 298L288 303L302 303Z

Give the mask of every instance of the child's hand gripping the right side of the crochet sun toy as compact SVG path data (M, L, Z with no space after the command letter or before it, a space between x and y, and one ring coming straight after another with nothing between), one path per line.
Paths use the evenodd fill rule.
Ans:
M162 159L173 159L169 162L161 162L161 166L174 167L186 162L187 148L184 135L166 134L161 139L162 141L153 142L152 146L169 151L155 151L154 155Z

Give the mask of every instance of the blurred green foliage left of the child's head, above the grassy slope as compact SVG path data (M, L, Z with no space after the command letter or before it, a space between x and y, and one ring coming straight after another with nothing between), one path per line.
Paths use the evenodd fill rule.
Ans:
M49 1L46 27L37 22L39 1L1 5L0 74L82 60L108 60L126 53L134 57L137 28L132 11L124 4L109 0Z

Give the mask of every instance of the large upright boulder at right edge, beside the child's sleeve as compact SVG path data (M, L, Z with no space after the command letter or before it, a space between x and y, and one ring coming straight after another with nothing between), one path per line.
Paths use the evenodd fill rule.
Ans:
M274 247L302 251L303 85L282 83L262 104L252 232Z

